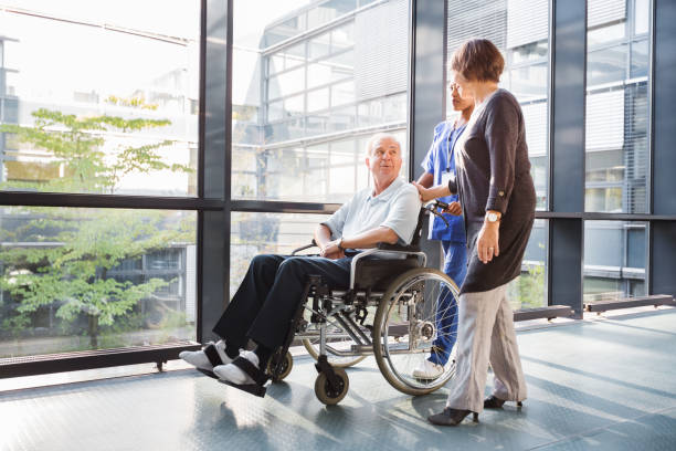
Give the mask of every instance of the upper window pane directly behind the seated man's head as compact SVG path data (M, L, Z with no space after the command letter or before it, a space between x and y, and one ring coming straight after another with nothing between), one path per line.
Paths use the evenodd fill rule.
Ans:
M363 3L336 0L313 6L270 4L264 0L234 3L233 43L235 50L247 51L233 54L233 111L246 113L237 114L233 122L233 197L338 202L334 196L337 180L347 180L348 174L349 180L368 180L368 171L360 158L352 159L350 167L336 169L340 175L335 176L329 168L336 161L334 143L349 139L358 146L366 145L366 139L382 126L398 134L403 159L408 159L408 33L401 33L401 27L373 25L408 23L408 4L402 0L382 1L340 23L329 22ZM299 36L296 24L303 17L307 17L307 29L311 31ZM281 35L284 23L288 23L287 39L291 33L297 38L277 40L278 46L268 51L272 41L262 36L273 32ZM311 62L305 60L306 51ZM289 69L292 53L298 65ZM271 76L265 77L261 67L276 67L281 55L285 57L284 71L271 71ZM369 55L377 55L384 66L401 70L388 75L384 83L381 72L355 71L357 65L372 66L368 64ZM369 105L363 116L361 111L358 115L358 104ZM266 117L256 120L254 112L265 106ZM359 130L365 122L372 127L369 133ZM284 170L298 172L285 176ZM406 174L402 169L401 175ZM351 181L341 188L339 199L347 200L347 192L355 192Z

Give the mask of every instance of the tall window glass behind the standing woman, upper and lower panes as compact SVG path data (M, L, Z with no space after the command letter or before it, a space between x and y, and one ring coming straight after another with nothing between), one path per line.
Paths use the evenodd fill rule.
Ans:
M537 209L546 210L549 180L549 0L446 0L447 61L464 41L490 40L503 52L505 72L500 87L519 101L536 185ZM447 104L446 117L456 113ZM516 308L547 305L548 223L534 227L521 276L510 286Z

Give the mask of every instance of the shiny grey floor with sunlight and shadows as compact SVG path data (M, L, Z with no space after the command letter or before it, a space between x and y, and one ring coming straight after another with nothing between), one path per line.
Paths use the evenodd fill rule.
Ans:
M676 310L518 337L529 398L479 423L427 423L445 391L404 396L372 357L327 408L299 357L264 399L192 370L3 392L0 450L676 450Z

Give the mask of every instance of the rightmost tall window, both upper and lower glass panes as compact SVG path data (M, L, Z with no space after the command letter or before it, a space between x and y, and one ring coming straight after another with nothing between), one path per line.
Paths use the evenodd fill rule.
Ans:
M648 0L588 2L585 211L649 212L649 17ZM585 223L585 302L645 294L645 258L630 259L640 265L626 269L626 255L644 255L645 229Z

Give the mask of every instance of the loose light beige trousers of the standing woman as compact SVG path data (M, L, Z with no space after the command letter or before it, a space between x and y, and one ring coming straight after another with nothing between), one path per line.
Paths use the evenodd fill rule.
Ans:
M456 373L446 407L484 410L489 360L495 375L493 395L506 401L526 399L514 313L506 293L507 284L460 296Z

